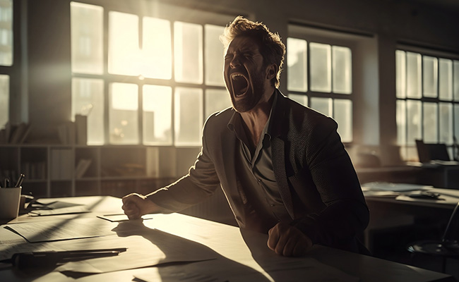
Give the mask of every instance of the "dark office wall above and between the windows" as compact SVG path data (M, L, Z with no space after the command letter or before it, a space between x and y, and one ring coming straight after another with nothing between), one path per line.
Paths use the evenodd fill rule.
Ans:
M135 3L130 0L106 0ZM150 1L151 4L155 1ZM375 38L376 64L374 75L365 88L366 99L379 104L379 114L366 117L361 111L357 142L371 144L371 132L379 128L381 145L395 143L395 48L398 42L415 42L424 47L459 50L459 12L395 0L168 0L171 5L229 15L242 14L266 23L285 39L290 22L333 30L365 33ZM28 118L34 129L31 138L47 140L55 135L56 125L69 121L71 116L70 19L68 0L16 0L23 9L26 25L23 44L27 47ZM88 1L102 4L104 1ZM151 6L151 5L150 5ZM153 5L154 6L154 5ZM372 61L370 62L370 60ZM376 75L376 76L375 76ZM374 79L376 77L376 79ZM375 80L374 82L372 80ZM286 76L280 89L286 91ZM375 88L372 90L371 85ZM364 105L364 104L362 104ZM16 105L16 108L19 108ZM20 109L20 108L19 108Z

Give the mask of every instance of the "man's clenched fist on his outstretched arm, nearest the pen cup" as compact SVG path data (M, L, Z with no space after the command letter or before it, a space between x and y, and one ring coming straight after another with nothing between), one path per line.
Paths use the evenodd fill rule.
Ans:
M129 219L140 219L144 214L160 212L160 207L147 199L146 196L132 193L123 197L124 214Z

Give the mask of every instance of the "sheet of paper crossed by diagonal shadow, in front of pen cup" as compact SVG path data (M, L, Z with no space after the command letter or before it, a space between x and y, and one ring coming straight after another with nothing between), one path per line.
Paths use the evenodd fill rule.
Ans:
M5 228L20 234L30 243L36 243L110 235L114 234L111 231L114 226L109 221L86 218L30 221L8 224Z

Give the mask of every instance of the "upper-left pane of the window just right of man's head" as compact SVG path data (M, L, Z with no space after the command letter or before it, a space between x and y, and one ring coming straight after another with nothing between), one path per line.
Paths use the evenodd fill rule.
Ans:
M306 40L287 37L287 89L308 91Z

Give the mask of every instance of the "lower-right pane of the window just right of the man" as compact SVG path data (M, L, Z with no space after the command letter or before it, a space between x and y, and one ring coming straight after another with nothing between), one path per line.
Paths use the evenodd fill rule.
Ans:
M352 101L348 99L333 100L333 118L338 123L338 133L342 142L352 142Z

